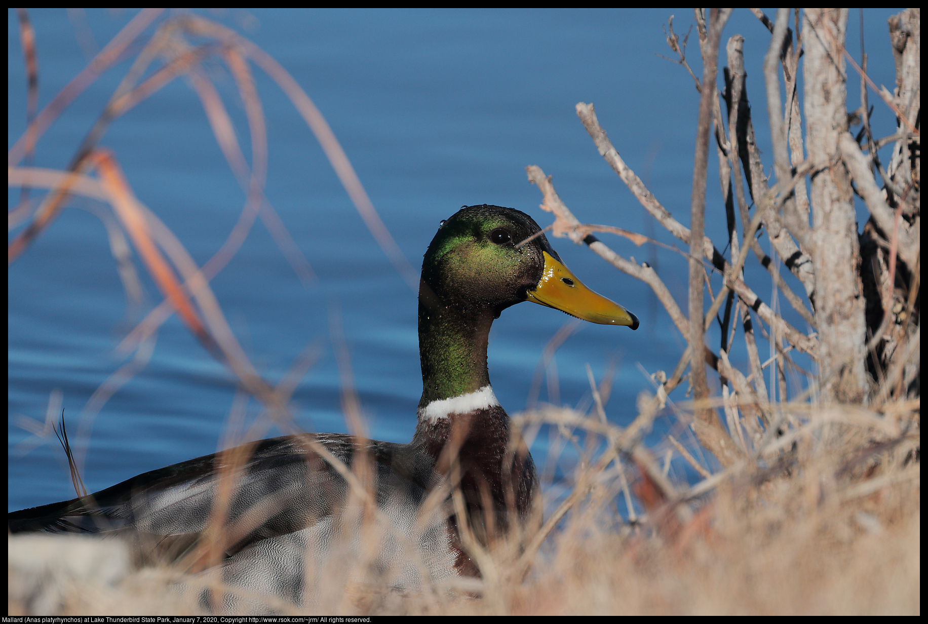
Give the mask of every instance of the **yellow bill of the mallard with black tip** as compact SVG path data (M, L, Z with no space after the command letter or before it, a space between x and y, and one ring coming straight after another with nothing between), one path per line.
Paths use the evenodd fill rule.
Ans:
M545 256L545 269L538 287L528 292L528 301L548 305L591 323L627 325L633 330L638 329L638 317L621 305L586 288L569 268L564 267L563 263L548 252L542 254Z

